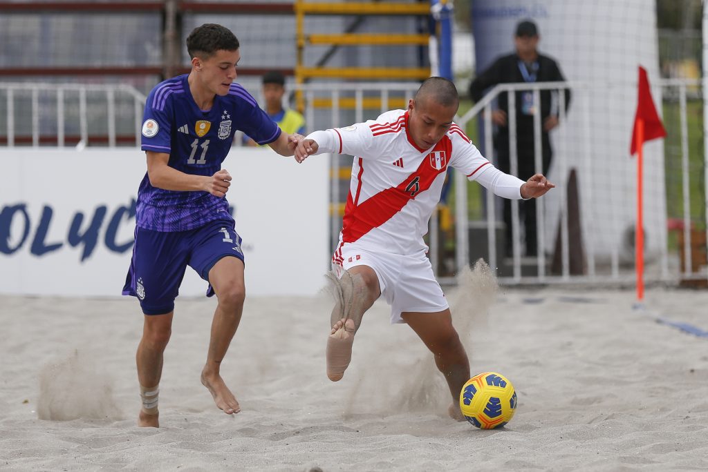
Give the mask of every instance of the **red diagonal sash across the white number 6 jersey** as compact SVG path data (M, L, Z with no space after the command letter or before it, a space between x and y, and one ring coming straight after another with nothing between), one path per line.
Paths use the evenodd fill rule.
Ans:
M445 151L448 159L452 155L452 141L447 136L442 136L442 139L435 145L431 151ZM355 205L352 199L352 194L349 192L347 204L344 210L342 240L343 242L355 242L360 237L370 232L373 228L378 228L382 224L390 220L396 213L401 211L401 208L406 206L406 203L415 199L411 196L410 191L406 191L406 187L412 184L416 178L418 179L418 193L430 189L435 177L438 177L442 172L447 170L447 165L440 170L430 165L430 158L426 155L423 162L415 172L412 172L396 187L379 191L378 194L371 196L360 205ZM361 182L359 182L359 187ZM357 190L357 194L359 191ZM358 199L358 195L357 195Z

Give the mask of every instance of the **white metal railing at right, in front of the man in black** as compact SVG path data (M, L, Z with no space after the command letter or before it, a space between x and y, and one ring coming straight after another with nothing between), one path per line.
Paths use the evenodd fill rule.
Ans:
M682 174L682 206L683 206L683 218L682 218L682 223L683 223L683 241L680 242L680 244L683 245L684 247L684 260L683 262L683 271L681 273L678 273L678 271L673 271L670 272L669 269L669 254L668 254L668 247L666 244L662 244L660 247L660 254L658 254L658 271L655 273L650 273L647 276L647 280L650 281L677 281L678 279L695 279L695 278L708 278L708 267L706 268L706 271L697 273L695 271L695 267L692 267L692 242L691 242L691 235L690 235L690 228L692 227L692 220L690 216L690 208L691 208L691 203L697 204L699 206L708 206L708 195L706 195L708 192L704 191L704 198L702 201L698 202L692 202L690 201L690 193L689 193L689 183L690 183L690 178L691 178L691 170L689 166L689 149L688 149L688 126L687 126L687 109L686 109L686 102L687 102L687 95L689 92L691 93L692 96L700 95L701 91L701 85L702 83L700 81L696 80L678 80L678 79L672 79L672 80L662 80L662 81L657 81L655 84L655 88L658 88L659 90L663 91L666 93L667 90L671 90L673 93L666 94L666 95L672 95L675 97L678 102L679 102L679 107L680 107L680 142L681 142L681 174ZM590 119L590 101L593 99L598 99L600 98L603 94L607 93L607 90L610 89L615 89L619 90L621 89L623 93L628 94L626 96L632 97L632 106L636 107L636 83L619 83L619 82L614 82L614 83L598 83L598 82L593 82L593 83L581 83L581 82L576 82L576 83L564 83L564 82L555 82L555 83L534 83L534 84L529 84L529 83L519 83L519 84L501 84L501 85L496 85L496 87L492 88L489 93L487 93L484 98L482 98L472 109L470 109L467 113L465 113L462 117L459 117L457 119L457 124L462 127L462 129L465 129L467 127L467 124L469 124L472 119L474 118L479 118L481 119L481 127L483 128L484 131L481 131L481 133L484 136L484 143L487 143L486 146L486 157L489 158L490 160L493 160L493 152L491 151L491 142L493 138L493 123L491 120L491 112L492 112L492 105L493 102L498 99L502 94L506 94L507 100L508 100L508 110L509 110L509 116L508 116L508 123L509 123L509 153L510 153L510 167L511 167L511 174L515 174L516 170L518 170L518 149L517 149L517 142L516 142L516 107L515 107L515 98L516 98L516 92L519 91L530 91L533 93L533 98L535 103L539 103L539 94L541 90L566 90L566 89L571 89L573 90L574 95L580 95L579 98L576 98L574 100L579 100L580 104L578 105L573 105L573 113L579 114L581 116L580 121L581 121L581 143L573 143L575 146L574 148L576 150L579 149L579 153L582 155L582 158L579 159L580 164L583 167L583 170L586 172L586 178L588 178L590 175L592 175L592 167L593 167L593 155L592 155L592 149L591 149L591 138L590 134L593 131L593 123L591 122ZM593 95L594 94L594 95ZM587 244L587 254L586 254L586 264L587 264L587 272L583 273L582 275L573 275L571 274L570 271L570 264L569 264L569 249L571 246L571 241L569 241L569 232L568 232L568 220L569 220L569 211L568 211L568 200L567 200L567 195L566 195L566 171L569 169L569 143L568 143L568 138L567 136L564 136L564 125L566 124L566 113L565 113L565 94L564 93L558 93L557 94L557 100L558 100L558 110L559 110L559 131L557 131L561 136L557 139L558 141L558 148L557 152L554 153L554 165L557 165L559 167L559 171L556 172L556 177L558 182L555 182L557 185L557 189L555 190L558 192L558 194L561 196L560 197L560 242L561 242L561 273L559 275L549 275L547 273L547 256L546 252L544 249L547 248L547 222L549 218L547 218L547 215L544 214L544 205L538 204L537 205L537 212L538 212L538 225L537 225L537 256L535 256L535 264L533 264L535 267L535 274L532 276L529 275L522 275L522 269L523 269L523 258L521 256L521 239L520 239L520 215L519 215L519 208L518 208L518 201L512 201L512 228L511 232L513 234L513 254L512 254L512 270L513 273L511 276L503 276L500 277L500 280L506 283L558 283L558 282L583 282L583 281L593 281L593 282L598 282L598 281L607 281L608 279L610 281L632 281L633 280L633 272L632 268L629 268L629 270L622 271L620 269L621 263L619 261L620 257L617 252L617 249L613 249L610 251L610 263L609 263L609 271L601 272L598 269L598 257L597 257L597 249L598 247L595 247L595 244L593 244L592 240L586 240L588 241ZM661 105L661 102L659 102L658 105ZM578 108L580 110L578 110ZM610 109L610 107L608 107ZM632 115L631 117L634 116L634 109L632 108ZM626 113L625 113L626 114ZM631 119L631 117L629 117ZM631 124L631 121L628 122ZM534 149L534 158L535 158L535 172L536 173L542 173L542 141L541 141L541 136L542 136L542 131L541 131L541 117L539 113L536 113L534 116L534 143L535 143L535 149ZM601 126L598 126L598 124L595 124L595 128L601 128ZM704 124L704 129L705 129L705 124ZM629 143L629 136L631 133L631 128L627 131L627 143ZM703 153L704 157L704 182L708 182L708 154L704 152L704 149L700 150ZM626 158L629 160L629 151L627 148L627 151L624 149L622 150L621 153L623 158ZM663 163L663 159L661 160ZM663 173L662 173L663 175ZM661 182L663 185L663 182ZM585 185L583 186L584 189L587 190L587 193L583 195L584 198L588 199L588 201L593 202L593 199L595 196L593 196L593 185ZM456 191L456 199L455 201L457 202L456 206L456 247L457 247L457 252L456 252L456 264L457 267L463 266L465 264L469 264L469 232L468 232L468 211L467 211L467 182L466 182L466 177L464 175L460 175L459 172L455 176L455 191ZM545 198L545 197L544 197ZM496 206L493 203L493 198L487 196L485 199L486 201L486 228L487 228L487 242L489 246L489 265L491 266L492 270L495 271L498 265L500 264L501 261L498 261L498 256L497 256L497 251L496 251L496 246L499 244L499 242L496 240L496 223L497 223L497 218L496 218ZM622 202L616 202L617 205L622 204ZM706 224L708 227L708 221L703 222ZM601 223L600 223L601 224Z

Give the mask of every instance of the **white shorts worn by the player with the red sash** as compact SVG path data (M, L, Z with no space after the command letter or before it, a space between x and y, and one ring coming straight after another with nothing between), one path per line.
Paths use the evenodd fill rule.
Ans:
M381 295L391 305L392 323L405 323L402 312L437 313L450 307L435 280L430 259L423 252L404 256L367 251L355 243L346 243L338 247L332 261L337 276L341 276L342 269L355 266L374 269Z

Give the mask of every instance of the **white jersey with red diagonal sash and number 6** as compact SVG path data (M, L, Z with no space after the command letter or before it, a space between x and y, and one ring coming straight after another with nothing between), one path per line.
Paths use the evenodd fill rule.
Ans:
M394 254L426 252L423 235L440 201L447 167L470 180L488 170L498 172L457 124L435 146L421 149L409 135L408 119L405 110L392 110L328 130L336 133L335 152L355 156L335 263L341 263L346 243Z

